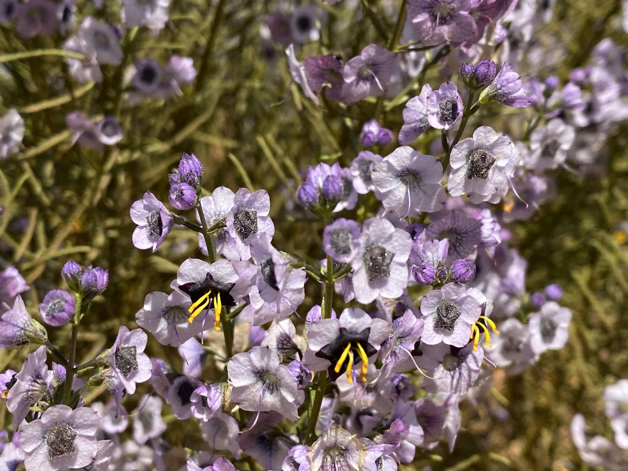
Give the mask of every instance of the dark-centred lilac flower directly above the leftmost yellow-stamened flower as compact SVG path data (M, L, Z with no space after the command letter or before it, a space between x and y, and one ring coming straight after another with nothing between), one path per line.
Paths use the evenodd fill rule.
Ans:
M249 237L252 234L263 232L269 240L274 236L274 224L268 217L271 200L266 190L249 192L240 188L234 197L234 207L227 215L227 229L229 235L236 239L236 248L241 260L251 258Z

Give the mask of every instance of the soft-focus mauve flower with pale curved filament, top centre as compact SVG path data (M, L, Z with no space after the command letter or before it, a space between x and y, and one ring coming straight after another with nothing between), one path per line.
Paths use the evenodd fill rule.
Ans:
M369 44L359 56L345 64L342 71L345 79L342 102L352 105L366 97L383 95L397 67L394 52Z

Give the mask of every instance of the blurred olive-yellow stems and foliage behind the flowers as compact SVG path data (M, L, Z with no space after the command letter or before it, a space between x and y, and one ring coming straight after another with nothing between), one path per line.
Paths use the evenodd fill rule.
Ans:
M316 3L326 8L327 18L320 41L305 45L301 58L333 51L346 59L369 42L385 44L365 9L372 9L384 32L392 35L401 2L364 0L364 8L355 3L356 8L349 8L349 1L332 8ZM27 126L21 153L0 161L0 255L34 288L25 296L34 309L47 290L62 283L60 269L68 257L109 269L109 288L92 303L78 337L81 362L111 344L119 325L134 327L144 296L167 291L178 264L200 256L196 235L188 230L173 230L156 254L139 251L131 242L131 203L145 191L165 199L167 173L183 152L195 153L205 165L205 193L220 185L268 190L274 244L310 260L322 258L322 225L295 205L300 175L321 160L348 165L359 149L362 122L373 116L376 102L365 100L344 111L306 100L291 85L281 47L259 34L259 24L275 7L254 0L173 2L170 22L160 35L151 36L146 28L126 34L123 65L104 67L102 84L72 84L61 57L26 58L0 68L1 114L16 107ZM117 7L95 11L90 2L80 2L78 12L78 18L119 19ZM617 32L619 16L619 0L557 0L552 21L535 38L548 57L560 58L548 61L554 69L547 74L564 83L570 69L585 65L604 37L625 46L625 34ZM18 40L0 27L0 53L60 43L60 38ZM175 99L127 106L120 85L124 65L144 57L165 63L171 54L194 58L202 72L196 84ZM437 69L425 75L433 86L442 81ZM523 66L519 72L531 78ZM381 124L399 129L403 104L417 88L415 82L407 97L400 94L404 99L386 102ZM103 154L72 146L64 117L75 109L89 117L114 114L124 138ZM521 138L526 111L517 111L514 119L498 112L504 109L484 107L467 133L490 124ZM568 344L517 376L495 371L486 398L475 406L465 404L453 454L424 452L416 469L423 464L449 471L587 469L571 443L571 418L582 412L597 432L609 433L601 413L602 389L628 372L628 246L617 232L628 219L627 131L624 123L607 142L607 153L599 156L604 170L580 178L559 169L556 197L531 220L509 227L511 244L529 262L528 291L549 283L565 288L561 303L573 310ZM428 146L430 138L419 145ZM386 155L394 145L380 153ZM364 200L360 219L369 216L369 203ZM313 283L307 286L302 313L320 295ZM50 331L63 349L70 325ZM181 366L176 350L154 339L148 353ZM26 351L1 355L2 369L19 369ZM0 419L8 426L5 414L0 408ZM166 436L182 443L180 431L171 425Z

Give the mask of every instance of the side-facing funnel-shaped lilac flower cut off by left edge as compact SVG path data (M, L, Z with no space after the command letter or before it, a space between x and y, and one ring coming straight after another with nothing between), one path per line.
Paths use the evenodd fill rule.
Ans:
M13 308L0 318L0 347L24 345L30 341L43 344L46 340L46 329L31 317L22 296L18 295Z

